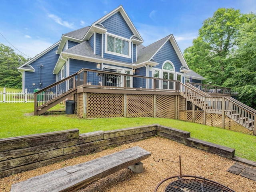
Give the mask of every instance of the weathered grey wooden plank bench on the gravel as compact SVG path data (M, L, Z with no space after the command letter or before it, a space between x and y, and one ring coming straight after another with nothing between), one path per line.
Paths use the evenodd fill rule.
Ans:
M67 192L78 190L114 172L138 164L150 155L150 152L136 146L82 164L64 167L32 177L26 181L13 184L11 192Z

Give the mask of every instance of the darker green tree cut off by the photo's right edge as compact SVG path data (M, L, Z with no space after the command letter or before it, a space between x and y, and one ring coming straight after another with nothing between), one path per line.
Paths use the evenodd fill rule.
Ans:
M246 14L244 20L236 40L236 69L224 86L237 92L241 102L256 108L256 15Z

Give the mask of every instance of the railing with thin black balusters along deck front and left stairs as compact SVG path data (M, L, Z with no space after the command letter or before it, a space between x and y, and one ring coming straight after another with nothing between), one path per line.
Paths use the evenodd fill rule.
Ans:
M35 111L79 87L179 92L179 81L90 70L80 71L34 93Z

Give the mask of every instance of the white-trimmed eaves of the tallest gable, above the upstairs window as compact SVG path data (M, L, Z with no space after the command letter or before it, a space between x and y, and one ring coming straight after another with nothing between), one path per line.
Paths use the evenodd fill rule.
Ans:
M104 26L102 25L102 22L104 22L105 20L107 20L108 18L110 18L111 16L113 16L114 14L116 14L117 12L120 12L120 14L122 15L122 17L124 18L124 20L126 21L126 23L128 24L128 26L130 27L130 30L132 31L132 33L134 34L134 36L132 37L132 39L134 41L136 41L138 44L141 44L143 42L142 37L140 36L139 32L137 31L137 29L135 28L134 24L132 23L132 21L130 20L129 16L126 14L124 8L122 5L120 5L118 8L116 8L115 10L109 12L108 14L106 14L105 16L103 16L102 18L100 18L99 20L97 20L96 22L94 22L92 24L92 26L90 26L90 29L88 30L88 32L85 34L83 41L84 40L88 40L90 38L90 36L92 35L92 33L96 30L103 30L102 32L106 32L107 29L104 28Z

